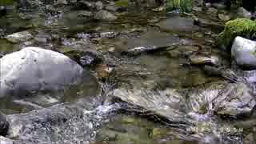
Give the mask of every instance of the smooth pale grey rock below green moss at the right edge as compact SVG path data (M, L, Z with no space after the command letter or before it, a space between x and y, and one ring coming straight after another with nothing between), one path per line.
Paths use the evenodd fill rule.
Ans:
M238 66L247 69L256 68L256 42L246 38L237 37L234 39L231 48L231 55Z

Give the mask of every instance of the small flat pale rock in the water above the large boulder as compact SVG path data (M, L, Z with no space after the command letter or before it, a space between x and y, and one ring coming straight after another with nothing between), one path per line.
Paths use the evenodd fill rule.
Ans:
M18 32L18 33L14 33L6 36L6 39L9 42L14 42L14 43L25 42L27 40L30 40L31 38L33 38L33 35L30 34L29 31L22 31L22 32Z

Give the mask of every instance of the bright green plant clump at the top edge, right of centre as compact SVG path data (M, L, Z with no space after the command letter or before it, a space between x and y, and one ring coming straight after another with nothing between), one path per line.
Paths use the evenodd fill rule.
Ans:
M190 12L192 10L192 0L167 0L166 10L181 10Z

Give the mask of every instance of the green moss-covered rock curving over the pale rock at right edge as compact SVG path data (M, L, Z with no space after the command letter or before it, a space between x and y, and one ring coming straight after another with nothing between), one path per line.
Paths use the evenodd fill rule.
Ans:
M237 36L251 38L253 34L256 34L256 21L252 21L248 18L231 20L226 22L224 30L222 33L218 34L218 46L230 50L234 38Z

